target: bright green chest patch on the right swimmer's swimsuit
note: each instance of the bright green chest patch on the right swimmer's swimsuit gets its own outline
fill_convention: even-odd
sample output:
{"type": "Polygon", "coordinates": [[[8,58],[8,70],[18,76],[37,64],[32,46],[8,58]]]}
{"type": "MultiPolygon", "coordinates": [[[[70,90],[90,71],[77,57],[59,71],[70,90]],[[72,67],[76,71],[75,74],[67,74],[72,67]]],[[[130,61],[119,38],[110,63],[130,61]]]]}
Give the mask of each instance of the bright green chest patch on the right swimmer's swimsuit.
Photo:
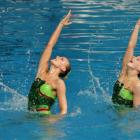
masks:
{"type": "Polygon", "coordinates": [[[131,91],[129,91],[128,89],[125,89],[124,87],[120,90],[119,95],[126,100],[133,100],[133,94],[131,91]]]}

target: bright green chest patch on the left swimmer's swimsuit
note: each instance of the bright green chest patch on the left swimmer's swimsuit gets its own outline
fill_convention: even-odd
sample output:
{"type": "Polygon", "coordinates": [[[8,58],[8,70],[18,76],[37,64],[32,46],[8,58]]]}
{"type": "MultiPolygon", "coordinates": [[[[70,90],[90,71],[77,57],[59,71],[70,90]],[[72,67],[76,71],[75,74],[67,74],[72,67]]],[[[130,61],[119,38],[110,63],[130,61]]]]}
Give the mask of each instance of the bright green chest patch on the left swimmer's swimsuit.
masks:
{"type": "Polygon", "coordinates": [[[56,96],[53,94],[52,87],[46,83],[40,86],[40,92],[54,100],[56,99],[56,96]]]}

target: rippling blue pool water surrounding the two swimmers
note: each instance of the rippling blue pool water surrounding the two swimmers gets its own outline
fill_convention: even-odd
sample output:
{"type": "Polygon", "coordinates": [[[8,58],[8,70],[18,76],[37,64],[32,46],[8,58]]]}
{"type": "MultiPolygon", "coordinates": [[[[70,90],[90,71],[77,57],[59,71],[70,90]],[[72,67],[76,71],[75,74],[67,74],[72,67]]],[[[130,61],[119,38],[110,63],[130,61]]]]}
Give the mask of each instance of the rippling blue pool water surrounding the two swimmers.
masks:
{"type": "Polygon", "coordinates": [[[139,7],[139,0],[1,0],[0,140],[139,140],[140,110],[111,102],[139,7]],[[68,115],[51,123],[27,111],[27,95],[44,46],[69,9],[73,24],[52,56],[71,61],[68,115]]]}

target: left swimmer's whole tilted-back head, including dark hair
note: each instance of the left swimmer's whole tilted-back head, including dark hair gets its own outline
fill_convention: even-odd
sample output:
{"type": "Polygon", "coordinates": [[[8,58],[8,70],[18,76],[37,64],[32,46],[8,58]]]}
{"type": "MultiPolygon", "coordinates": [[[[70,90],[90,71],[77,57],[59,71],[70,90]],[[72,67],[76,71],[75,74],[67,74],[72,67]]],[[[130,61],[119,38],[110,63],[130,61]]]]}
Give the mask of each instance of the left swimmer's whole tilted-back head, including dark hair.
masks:
{"type": "Polygon", "coordinates": [[[71,70],[70,62],[66,57],[57,56],[55,59],[51,60],[51,64],[60,69],[59,76],[61,78],[65,78],[71,70]]]}

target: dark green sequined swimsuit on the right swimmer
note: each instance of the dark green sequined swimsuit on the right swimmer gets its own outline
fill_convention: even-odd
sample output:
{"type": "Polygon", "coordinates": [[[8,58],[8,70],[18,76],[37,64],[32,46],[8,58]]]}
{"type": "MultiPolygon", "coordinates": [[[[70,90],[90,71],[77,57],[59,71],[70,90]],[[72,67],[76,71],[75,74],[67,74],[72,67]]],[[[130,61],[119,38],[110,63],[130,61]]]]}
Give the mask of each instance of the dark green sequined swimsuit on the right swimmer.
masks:
{"type": "Polygon", "coordinates": [[[116,81],[113,88],[112,101],[115,104],[133,107],[133,93],[124,88],[124,84],[116,81]]]}

